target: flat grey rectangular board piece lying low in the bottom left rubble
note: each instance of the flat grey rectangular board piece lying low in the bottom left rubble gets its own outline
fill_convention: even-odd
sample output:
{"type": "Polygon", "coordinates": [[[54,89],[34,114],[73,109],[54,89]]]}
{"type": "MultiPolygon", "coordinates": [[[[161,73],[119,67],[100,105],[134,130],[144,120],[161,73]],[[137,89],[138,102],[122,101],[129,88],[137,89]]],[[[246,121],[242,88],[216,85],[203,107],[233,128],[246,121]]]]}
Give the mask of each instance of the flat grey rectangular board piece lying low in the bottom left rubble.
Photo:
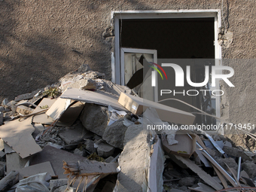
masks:
{"type": "Polygon", "coordinates": [[[49,161],[44,163],[38,163],[33,166],[27,166],[22,169],[18,169],[17,171],[20,172],[19,180],[43,172],[48,172],[51,176],[55,175],[53,167],[51,166],[49,161]]]}

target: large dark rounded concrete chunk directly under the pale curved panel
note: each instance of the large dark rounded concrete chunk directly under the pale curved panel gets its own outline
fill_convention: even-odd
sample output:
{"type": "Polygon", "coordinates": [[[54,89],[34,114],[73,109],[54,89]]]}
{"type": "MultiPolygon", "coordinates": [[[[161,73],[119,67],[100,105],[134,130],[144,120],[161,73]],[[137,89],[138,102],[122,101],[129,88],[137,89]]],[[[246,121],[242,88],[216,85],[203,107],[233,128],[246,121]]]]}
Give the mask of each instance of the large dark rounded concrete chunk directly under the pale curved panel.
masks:
{"type": "Polygon", "coordinates": [[[86,103],[84,111],[80,116],[80,120],[84,127],[99,136],[103,136],[105,128],[108,126],[109,122],[109,118],[107,117],[107,114],[102,112],[102,108],[104,107],[101,105],[86,103]]]}

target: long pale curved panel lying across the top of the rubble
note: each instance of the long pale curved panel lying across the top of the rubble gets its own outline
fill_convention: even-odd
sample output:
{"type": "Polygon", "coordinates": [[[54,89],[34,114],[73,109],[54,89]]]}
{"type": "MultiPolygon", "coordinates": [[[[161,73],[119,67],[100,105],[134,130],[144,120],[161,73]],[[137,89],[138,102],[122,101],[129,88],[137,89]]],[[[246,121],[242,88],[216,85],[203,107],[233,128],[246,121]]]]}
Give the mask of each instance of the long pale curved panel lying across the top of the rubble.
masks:
{"type": "Polygon", "coordinates": [[[120,111],[127,111],[122,105],[118,103],[118,96],[113,94],[106,93],[104,91],[96,90],[78,90],[78,89],[68,89],[60,98],[63,99],[74,99],[76,101],[95,103],[98,105],[108,106],[111,105],[112,108],[115,108],[120,111]]]}

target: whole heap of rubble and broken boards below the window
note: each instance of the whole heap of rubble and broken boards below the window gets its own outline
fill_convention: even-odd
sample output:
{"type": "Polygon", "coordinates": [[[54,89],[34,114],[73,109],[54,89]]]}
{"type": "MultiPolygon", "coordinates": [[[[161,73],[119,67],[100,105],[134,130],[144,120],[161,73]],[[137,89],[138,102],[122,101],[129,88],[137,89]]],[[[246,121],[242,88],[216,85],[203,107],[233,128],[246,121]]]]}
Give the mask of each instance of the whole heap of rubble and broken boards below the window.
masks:
{"type": "Polygon", "coordinates": [[[0,191],[255,189],[256,157],[87,65],[0,106],[0,191]],[[152,129],[148,129],[151,127],[152,129]]]}

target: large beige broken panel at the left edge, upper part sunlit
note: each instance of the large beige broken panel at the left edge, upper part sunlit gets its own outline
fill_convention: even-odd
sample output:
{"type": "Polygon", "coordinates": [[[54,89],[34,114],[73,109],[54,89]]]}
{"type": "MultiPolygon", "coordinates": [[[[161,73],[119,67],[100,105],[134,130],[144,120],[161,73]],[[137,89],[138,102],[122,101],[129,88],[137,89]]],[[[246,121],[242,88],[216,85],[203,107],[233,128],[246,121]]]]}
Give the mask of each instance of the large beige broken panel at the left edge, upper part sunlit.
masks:
{"type": "Polygon", "coordinates": [[[41,151],[41,148],[32,138],[35,128],[31,124],[32,117],[5,122],[1,126],[0,136],[20,157],[29,157],[41,151]]]}

